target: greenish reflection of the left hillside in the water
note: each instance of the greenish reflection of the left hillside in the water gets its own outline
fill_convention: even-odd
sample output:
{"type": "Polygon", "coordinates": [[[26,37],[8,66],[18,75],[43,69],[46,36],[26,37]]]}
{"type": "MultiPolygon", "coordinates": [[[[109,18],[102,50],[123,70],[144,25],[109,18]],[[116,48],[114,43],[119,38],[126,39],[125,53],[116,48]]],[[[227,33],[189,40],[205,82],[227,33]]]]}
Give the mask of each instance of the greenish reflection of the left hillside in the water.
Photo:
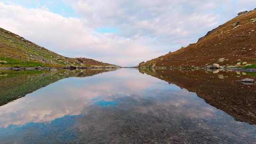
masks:
{"type": "Polygon", "coordinates": [[[87,77],[116,69],[0,71],[0,106],[67,77],[87,77]]]}

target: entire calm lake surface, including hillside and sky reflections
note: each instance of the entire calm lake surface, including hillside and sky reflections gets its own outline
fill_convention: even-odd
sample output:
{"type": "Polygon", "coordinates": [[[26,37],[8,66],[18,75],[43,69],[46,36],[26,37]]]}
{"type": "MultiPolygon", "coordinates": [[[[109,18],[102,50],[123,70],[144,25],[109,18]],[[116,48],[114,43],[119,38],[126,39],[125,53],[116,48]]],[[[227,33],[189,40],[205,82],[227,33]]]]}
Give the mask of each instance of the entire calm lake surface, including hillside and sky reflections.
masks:
{"type": "Polygon", "coordinates": [[[256,73],[0,71],[0,144],[256,144],[256,73]]]}

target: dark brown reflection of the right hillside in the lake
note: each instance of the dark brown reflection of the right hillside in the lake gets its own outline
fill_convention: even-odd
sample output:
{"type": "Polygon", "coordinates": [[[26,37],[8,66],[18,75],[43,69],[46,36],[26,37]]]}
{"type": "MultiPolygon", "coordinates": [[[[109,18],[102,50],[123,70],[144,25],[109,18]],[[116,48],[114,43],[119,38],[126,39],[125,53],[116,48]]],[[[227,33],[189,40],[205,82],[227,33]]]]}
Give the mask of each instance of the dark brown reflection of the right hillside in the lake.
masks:
{"type": "Polygon", "coordinates": [[[213,74],[199,70],[139,71],[196,92],[207,103],[225,111],[238,121],[256,124],[256,85],[238,82],[243,78],[250,78],[249,75],[237,77],[235,72],[213,74]]]}

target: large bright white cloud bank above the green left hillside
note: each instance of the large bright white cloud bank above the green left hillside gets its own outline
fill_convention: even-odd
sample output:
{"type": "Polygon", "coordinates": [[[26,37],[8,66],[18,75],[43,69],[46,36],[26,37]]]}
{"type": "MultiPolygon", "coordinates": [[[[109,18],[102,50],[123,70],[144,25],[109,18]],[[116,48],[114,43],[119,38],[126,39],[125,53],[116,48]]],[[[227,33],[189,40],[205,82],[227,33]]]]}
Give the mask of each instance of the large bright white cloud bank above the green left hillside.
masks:
{"type": "Polygon", "coordinates": [[[135,65],[146,55],[156,56],[136,39],[99,34],[79,18],[64,18],[47,9],[0,3],[0,21],[0,27],[67,56],[91,57],[120,65],[135,65]]]}

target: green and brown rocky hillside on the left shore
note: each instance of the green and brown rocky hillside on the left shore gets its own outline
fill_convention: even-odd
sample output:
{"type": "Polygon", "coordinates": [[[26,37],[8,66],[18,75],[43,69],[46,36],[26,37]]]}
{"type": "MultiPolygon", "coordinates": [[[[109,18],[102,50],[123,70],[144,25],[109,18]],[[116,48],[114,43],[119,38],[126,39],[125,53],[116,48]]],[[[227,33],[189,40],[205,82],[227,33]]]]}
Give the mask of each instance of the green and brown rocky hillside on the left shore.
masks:
{"type": "Polygon", "coordinates": [[[0,67],[118,67],[87,58],[68,58],[0,28],[0,67]]]}

